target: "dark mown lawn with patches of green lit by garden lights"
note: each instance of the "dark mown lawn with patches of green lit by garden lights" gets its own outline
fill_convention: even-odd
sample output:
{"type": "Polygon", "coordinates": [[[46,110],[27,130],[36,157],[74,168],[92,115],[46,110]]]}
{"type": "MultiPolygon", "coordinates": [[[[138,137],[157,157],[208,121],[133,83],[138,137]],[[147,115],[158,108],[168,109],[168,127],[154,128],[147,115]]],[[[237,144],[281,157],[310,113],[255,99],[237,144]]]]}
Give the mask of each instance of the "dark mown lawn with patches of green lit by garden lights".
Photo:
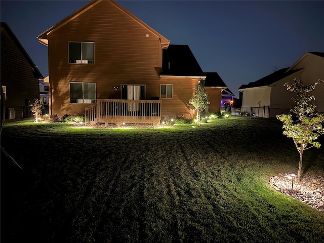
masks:
{"type": "MultiPolygon", "coordinates": [[[[324,242],[324,215],[270,188],[298,152],[275,119],[200,128],[4,126],[1,237],[9,242],[324,242]]],[[[323,146],[303,173],[324,175],[323,146]]]]}

